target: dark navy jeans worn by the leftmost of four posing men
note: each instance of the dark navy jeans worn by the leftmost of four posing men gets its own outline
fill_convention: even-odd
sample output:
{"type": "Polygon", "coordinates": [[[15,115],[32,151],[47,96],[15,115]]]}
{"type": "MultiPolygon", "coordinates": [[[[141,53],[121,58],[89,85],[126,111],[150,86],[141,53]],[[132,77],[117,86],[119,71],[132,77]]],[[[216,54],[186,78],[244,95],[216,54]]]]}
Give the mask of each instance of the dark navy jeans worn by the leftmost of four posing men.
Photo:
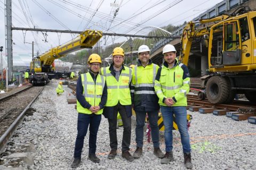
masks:
{"type": "Polygon", "coordinates": [[[84,146],[84,137],[86,136],[89,124],[89,154],[95,154],[97,133],[100,126],[100,121],[101,115],[78,113],[77,137],[74,158],[81,158],[82,149],[84,146]]]}

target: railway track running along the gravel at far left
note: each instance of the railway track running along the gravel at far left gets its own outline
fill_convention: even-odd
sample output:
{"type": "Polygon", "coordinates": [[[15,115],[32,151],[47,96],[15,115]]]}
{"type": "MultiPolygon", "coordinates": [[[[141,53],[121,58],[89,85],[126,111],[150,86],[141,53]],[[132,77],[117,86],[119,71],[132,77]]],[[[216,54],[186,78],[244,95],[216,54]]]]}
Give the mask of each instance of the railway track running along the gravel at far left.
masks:
{"type": "Polygon", "coordinates": [[[28,86],[0,96],[0,151],[43,89],[28,86]]]}

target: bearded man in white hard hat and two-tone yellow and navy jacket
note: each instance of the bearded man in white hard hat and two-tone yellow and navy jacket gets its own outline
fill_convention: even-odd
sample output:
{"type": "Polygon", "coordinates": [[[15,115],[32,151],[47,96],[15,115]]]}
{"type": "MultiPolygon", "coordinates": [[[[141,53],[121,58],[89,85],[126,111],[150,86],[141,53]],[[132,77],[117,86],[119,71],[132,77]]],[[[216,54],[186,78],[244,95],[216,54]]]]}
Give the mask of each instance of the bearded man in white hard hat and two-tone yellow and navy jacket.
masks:
{"type": "Polygon", "coordinates": [[[137,148],[133,154],[134,158],[142,156],[143,147],[143,127],[145,125],[146,113],[149,118],[151,135],[154,145],[154,155],[163,158],[164,154],[159,148],[159,129],[158,129],[158,97],[154,89],[155,76],[159,68],[149,59],[150,50],[148,46],[142,45],[138,49],[138,64],[133,67],[132,75],[132,98],[133,109],[136,113],[136,143],[137,148]]]}

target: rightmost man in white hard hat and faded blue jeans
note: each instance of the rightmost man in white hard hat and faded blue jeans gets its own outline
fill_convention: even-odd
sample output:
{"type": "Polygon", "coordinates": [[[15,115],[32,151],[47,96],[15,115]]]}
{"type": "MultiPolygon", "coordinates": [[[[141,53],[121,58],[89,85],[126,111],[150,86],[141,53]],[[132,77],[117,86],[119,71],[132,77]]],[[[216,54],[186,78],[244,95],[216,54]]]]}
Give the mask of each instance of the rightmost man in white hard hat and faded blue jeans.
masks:
{"type": "Polygon", "coordinates": [[[166,154],[161,164],[168,164],[173,159],[172,127],[173,115],[178,125],[183,149],[184,164],[186,168],[192,168],[189,134],[187,127],[187,97],[189,92],[190,78],[188,68],[179,63],[176,57],[176,49],[167,44],[163,48],[165,62],[158,69],[155,79],[155,90],[159,98],[161,112],[164,121],[164,138],[166,154]]]}

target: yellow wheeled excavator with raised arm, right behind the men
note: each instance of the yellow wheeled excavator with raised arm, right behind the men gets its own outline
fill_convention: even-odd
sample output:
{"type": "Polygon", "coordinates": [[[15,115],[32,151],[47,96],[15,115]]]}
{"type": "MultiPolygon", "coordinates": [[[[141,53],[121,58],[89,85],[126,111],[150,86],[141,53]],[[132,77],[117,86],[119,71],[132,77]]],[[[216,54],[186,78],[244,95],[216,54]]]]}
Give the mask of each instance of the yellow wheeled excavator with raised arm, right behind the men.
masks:
{"type": "Polygon", "coordinates": [[[183,64],[188,65],[193,43],[208,51],[209,75],[201,78],[201,88],[211,103],[230,103],[236,94],[256,102],[256,11],[246,6],[230,15],[190,21],[181,37],[183,64]],[[196,27],[198,22],[203,27],[196,27]]]}

